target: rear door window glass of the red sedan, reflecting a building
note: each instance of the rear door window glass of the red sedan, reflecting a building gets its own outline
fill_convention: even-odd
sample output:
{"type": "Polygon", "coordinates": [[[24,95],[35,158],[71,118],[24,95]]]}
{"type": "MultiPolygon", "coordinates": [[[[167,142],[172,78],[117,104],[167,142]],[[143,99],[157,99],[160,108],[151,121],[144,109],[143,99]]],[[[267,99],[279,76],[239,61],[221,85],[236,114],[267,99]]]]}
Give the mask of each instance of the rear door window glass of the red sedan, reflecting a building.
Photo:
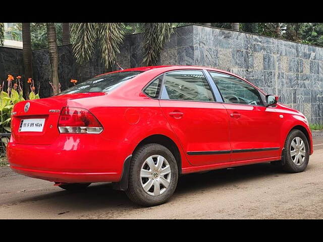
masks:
{"type": "Polygon", "coordinates": [[[168,95],[167,99],[214,101],[211,88],[201,71],[175,71],[167,73],[165,74],[164,85],[168,95]]]}

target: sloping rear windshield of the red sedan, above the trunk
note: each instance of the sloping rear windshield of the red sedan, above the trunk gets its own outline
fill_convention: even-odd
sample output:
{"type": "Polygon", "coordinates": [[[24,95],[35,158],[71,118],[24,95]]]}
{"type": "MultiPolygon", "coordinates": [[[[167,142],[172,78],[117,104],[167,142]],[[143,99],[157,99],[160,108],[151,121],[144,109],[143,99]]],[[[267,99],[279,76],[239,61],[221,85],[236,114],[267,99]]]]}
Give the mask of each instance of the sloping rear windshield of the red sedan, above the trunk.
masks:
{"type": "Polygon", "coordinates": [[[94,77],[85,82],[77,84],[73,87],[66,89],[59,95],[82,93],[82,92],[108,92],[112,89],[120,86],[125,81],[134,78],[142,72],[116,72],[111,74],[105,74],[102,76],[94,77]]]}

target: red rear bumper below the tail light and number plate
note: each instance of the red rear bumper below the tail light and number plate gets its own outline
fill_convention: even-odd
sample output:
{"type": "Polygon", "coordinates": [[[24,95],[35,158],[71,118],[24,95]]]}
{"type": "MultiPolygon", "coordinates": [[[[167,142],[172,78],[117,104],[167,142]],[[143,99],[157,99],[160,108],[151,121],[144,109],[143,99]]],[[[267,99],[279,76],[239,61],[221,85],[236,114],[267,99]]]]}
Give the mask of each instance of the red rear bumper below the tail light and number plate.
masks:
{"type": "MultiPolygon", "coordinates": [[[[129,156],[125,144],[97,135],[65,135],[51,145],[8,143],[10,167],[17,173],[62,183],[118,182],[129,156]]],[[[131,153],[131,152],[130,152],[131,153]]]]}

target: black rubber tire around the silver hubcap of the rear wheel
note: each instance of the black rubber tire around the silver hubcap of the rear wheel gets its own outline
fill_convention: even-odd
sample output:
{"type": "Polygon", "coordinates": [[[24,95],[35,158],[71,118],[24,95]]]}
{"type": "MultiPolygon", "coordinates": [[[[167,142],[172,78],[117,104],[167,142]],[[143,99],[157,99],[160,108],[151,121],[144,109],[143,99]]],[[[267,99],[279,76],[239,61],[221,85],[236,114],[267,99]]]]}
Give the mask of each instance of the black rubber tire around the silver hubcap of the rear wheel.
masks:
{"type": "MultiPolygon", "coordinates": [[[[178,167],[172,152],[163,145],[147,144],[134,152],[130,162],[127,196],[131,201],[142,206],[150,207],[167,202],[175,192],[178,181],[178,167]],[[158,196],[146,193],[141,185],[140,170],[145,160],[152,155],[161,155],[166,158],[171,168],[171,177],[168,188],[158,196]]],[[[152,187],[151,187],[152,188],[152,187]]]]}

